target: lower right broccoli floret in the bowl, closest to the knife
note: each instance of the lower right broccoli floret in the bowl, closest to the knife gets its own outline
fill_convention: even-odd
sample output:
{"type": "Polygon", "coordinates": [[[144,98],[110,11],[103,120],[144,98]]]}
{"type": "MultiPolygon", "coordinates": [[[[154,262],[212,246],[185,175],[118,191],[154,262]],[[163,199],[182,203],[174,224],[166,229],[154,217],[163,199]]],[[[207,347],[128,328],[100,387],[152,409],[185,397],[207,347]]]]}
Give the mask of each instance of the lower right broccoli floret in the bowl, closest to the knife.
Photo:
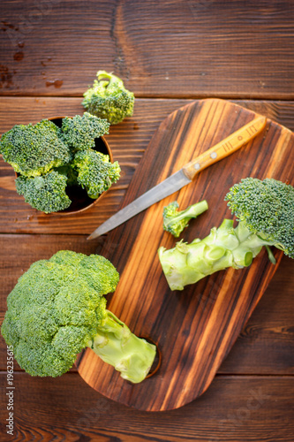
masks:
{"type": "Polygon", "coordinates": [[[78,173],[79,185],[87,190],[90,198],[98,198],[120,176],[120,167],[116,162],[110,163],[109,156],[87,149],[77,152],[72,167],[78,173]]]}

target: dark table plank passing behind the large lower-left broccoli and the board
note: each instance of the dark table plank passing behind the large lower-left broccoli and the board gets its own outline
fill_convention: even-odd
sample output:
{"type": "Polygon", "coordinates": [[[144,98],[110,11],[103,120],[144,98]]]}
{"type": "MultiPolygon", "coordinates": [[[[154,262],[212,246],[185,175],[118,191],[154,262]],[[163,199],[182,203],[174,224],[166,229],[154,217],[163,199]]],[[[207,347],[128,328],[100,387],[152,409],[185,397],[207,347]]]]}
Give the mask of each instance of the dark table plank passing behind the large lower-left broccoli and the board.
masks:
{"type": "MultiPolygon", "coordinates": [[[[105,238],[103,238],[105,241],[105,238]]],[[[70,249],[90,255],[99,244],[81,235],[0,235],[0,323],[6,297],[31,263],[47,259],[58,250],[70,249]]],[[[110,247],[110,245],[109,245],[110,247]]],[[[293,263],[283,257],[257,308],[235,346],[218,370],[222,374],[294,374],[293,263]]],[[[6,347],[0,339],[0,370],[5,370],[6,347]]],[[[15,362],[15,370],[19,365],[15,362]]],[[[76,370],[73,368],[72,370],[76,370]]]]}

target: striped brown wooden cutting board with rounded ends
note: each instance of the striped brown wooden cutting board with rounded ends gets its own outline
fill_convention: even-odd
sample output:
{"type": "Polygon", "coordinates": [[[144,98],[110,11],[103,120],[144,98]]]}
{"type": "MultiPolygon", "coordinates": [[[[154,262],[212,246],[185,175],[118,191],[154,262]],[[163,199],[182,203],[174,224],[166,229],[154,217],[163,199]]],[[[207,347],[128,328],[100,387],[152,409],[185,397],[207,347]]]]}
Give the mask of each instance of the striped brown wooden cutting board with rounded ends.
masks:
{"type": "MultiPolygon", "coordinates": [[[[195,101],[170,114],[150,141],[124,205],[255,117],[251,110],[217,99],[195,101]]],[[[263,250],[250,268],[219,271],[182,292],[171,292],[157,256],[160,246],[172,248],[176,242],[162,230],[163,206],[177,199],[185,209],[206,199],[207,212],[192,220],[180,237],[188,242],[203,238],[231,217],[223,198],[233,184],[249,176],[293,184],[293,164],[293,133],[268,120],[253,141],[200,172],[192,184],[96,240],[97,253],[109,258],[121,275],[116,292],[108,295],[108,309],[138,336],[154,341],[161,362],[153,376],[132,385],[87,349],[80,354],[78,370],[88,385],[112,400],[153,411],[181,407],[205,392],[283,253],[275,249],[273,265],[263,250]]]]}

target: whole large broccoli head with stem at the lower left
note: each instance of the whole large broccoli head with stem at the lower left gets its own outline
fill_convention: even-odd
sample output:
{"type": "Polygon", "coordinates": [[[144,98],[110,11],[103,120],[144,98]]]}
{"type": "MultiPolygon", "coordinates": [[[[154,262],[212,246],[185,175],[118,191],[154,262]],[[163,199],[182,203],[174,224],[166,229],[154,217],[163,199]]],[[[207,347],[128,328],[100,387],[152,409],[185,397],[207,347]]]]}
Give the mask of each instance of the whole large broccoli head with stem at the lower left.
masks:
{"type": "Polygon", "coordinates": [[[33,263],[7,298],[2,334],[22,369],[57,377],[90,347],[121,376],[141,382],[155,359],[155,346],[139,339],[106,309],[119,275],[103,256],[61,250],[33,263]]]}

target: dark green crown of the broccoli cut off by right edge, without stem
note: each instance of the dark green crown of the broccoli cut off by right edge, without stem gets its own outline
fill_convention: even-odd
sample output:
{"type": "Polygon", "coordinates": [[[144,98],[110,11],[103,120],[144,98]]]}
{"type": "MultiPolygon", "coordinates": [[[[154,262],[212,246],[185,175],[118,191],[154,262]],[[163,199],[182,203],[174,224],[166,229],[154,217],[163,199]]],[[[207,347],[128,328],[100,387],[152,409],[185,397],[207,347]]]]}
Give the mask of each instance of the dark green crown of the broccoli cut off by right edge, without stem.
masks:
{"type": "Polygon", "coordinates": [[[225,201],[251,232],[294,258],[294,187],[276,179],[242,179],[225,201]]]}

